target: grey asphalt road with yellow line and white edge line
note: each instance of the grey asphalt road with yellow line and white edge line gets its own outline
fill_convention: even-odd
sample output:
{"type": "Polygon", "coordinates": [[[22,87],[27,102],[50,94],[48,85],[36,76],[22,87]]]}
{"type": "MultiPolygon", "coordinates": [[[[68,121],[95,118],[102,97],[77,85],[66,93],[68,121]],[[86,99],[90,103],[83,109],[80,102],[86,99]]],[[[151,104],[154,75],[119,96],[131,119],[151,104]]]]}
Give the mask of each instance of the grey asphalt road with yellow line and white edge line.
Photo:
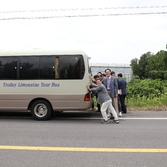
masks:
{"type": "Polygon", "coordinates": [[[48,121],[0,113],[0,167],[166,167],[167,111],[128,112],[101,124],[96,112],[48,121]]]}

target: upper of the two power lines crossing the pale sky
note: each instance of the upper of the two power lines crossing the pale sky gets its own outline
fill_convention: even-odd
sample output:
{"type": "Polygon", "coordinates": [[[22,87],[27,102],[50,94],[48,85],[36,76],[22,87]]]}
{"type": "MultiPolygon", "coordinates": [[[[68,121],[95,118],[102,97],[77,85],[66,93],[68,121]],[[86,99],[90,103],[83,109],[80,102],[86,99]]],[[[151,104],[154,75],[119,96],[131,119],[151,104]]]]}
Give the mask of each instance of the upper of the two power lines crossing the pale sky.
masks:
{"type": "Polygon", "coordinates": [[[167,8],[163,6],[129,6],[129,7],[104,7],[104,8],[64,8],[64,9],[41,9],[41,10],[15,10],[15,11],[0,11],[0,13],[23,13],[23,12],[54,12],[54,11],[83,11],[83,10],[111,10],[111,9],[156,9],[167,8]]]}

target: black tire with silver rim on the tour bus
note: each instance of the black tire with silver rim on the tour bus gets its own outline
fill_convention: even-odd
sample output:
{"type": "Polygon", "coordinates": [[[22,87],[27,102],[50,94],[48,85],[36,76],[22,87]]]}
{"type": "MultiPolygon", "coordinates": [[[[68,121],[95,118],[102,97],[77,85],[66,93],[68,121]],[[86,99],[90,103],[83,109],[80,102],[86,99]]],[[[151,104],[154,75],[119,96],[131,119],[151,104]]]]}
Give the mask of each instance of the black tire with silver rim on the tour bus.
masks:
{"type": "Polygon", "coordinates": [[[48,120],[52,115],[52,108],[45,100],[37,100],[31,106],[31,115],[36,120],[48,120]]]}

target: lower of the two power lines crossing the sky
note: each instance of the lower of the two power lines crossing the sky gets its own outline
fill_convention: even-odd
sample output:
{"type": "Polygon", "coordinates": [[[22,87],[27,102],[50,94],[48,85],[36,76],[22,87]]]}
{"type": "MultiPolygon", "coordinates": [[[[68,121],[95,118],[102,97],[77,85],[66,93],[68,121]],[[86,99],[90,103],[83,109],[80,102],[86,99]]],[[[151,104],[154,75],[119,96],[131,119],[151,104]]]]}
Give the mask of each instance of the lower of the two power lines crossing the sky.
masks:
{"type": "Polygon", "coordinates": [[[73,18],[73,17],[96,17],[96,16],[127,16],[127,15],[163,15],[167,12],[141,12],[141,13],[114,13],[114,14],[81,14],[81,15],[62,15],[62,16],[37,16],[37,17],[6,17],[0,20],[25,20],[25,19],[50,19],[50,18],[73,18]]]}

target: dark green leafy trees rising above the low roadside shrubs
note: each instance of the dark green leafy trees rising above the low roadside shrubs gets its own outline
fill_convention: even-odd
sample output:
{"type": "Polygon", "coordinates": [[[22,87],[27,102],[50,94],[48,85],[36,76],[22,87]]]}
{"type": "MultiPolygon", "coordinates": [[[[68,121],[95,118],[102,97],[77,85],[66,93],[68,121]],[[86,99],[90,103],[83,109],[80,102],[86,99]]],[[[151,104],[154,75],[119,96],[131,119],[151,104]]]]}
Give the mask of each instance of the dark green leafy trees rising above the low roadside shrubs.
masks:
{"type": "Polygon", "coordinates": [[[130,65],[133,75],[140,79],[167,79],[167,51],[161,50],[155,55],[144,53],[139,60],[132,59],[130,65]]]}

